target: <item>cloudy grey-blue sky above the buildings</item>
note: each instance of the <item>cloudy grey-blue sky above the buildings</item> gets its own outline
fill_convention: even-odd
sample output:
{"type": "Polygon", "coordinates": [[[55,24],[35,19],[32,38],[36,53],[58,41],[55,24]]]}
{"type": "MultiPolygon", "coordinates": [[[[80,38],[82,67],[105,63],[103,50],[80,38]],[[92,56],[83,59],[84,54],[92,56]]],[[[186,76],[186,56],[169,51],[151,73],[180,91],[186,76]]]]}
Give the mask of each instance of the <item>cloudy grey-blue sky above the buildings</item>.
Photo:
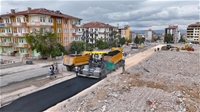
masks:
{"type": "Polygon", "coordinates": [[[200,0],[0,0],[0,14],[27,10],[27,7],[60,10],[82,19],[99,21],[131,30],[164,30],[178,25],[186,30],[200,21],[200,0]]]}

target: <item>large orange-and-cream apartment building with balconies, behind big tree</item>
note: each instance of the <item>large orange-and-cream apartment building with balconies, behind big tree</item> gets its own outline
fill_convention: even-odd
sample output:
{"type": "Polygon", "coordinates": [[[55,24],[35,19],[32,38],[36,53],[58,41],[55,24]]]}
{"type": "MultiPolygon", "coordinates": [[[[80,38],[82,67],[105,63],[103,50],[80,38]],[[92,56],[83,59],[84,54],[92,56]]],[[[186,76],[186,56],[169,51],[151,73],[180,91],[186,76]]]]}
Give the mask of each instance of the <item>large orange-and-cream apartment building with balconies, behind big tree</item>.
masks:
{"type": "Polygon", "coordinates": [[[31,9],[0,15],[0,53],[17,54],[23,57],[39,56],[36,51],[29,50],[26,42],[26,33],[34,29],[42,28],[44,31],[53,31],[57,35],[58,42],[64,47],[79,37],[76,26],[81,19],[61,13],[59,10],[47,10],[45,8],[31,9]]]}

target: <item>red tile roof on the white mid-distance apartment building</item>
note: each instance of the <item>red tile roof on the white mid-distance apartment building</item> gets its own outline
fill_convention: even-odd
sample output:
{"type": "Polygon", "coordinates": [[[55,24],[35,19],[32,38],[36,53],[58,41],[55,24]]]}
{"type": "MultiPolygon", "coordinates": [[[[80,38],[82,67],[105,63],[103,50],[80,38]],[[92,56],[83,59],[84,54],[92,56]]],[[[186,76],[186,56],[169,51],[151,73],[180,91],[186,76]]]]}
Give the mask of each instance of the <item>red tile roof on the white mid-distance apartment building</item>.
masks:
{"type": "Polygon", "coordinates": [[[83,24],[81,27],[83,28],[117,28],[117,27],[111,26],[109,24],[101,23],[101,22],[89,22],[89,23],[83,24]]]}

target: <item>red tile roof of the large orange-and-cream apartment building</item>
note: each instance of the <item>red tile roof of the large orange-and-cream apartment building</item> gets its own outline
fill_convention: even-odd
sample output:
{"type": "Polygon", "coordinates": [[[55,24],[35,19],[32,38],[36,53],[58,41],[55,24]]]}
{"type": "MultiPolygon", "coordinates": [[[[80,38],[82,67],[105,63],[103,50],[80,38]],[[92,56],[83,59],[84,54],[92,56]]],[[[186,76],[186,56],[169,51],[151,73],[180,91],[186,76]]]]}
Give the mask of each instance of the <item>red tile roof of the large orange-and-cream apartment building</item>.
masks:
{"type": "Polygon", "coordinates": [[[56,17],[62,17],[62,18],[72,18],[72,19],[82,20],[82,19],[77,18],[77,17],[73,17],[73,16],[70,16],[70,15],[67,15],[67,14],[63,14],[61,12],[57,13],[56,11],[48,10],[48,9],[45,9],[45,8],[31,9],[30,12],[28,12],[28,10],[26,10],[26,11],[15,12],[13,14],[12,13],[2,14],[2,15],[0,15],[0,17],[28,15],[28,14],[43,14],[43,15],[49,15],[49,16],[56,16],[56,17]]]}

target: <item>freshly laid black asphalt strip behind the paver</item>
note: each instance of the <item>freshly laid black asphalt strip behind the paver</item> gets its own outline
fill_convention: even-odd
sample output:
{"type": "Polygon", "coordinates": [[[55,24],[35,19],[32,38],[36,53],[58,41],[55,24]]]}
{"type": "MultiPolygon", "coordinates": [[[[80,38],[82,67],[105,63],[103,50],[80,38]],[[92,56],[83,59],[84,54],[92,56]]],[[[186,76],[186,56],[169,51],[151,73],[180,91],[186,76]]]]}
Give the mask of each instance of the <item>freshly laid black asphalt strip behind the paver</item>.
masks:
{"type": "Polygon", "coordinates": [[[76,95],[98,81],[100,80],[75,77],[49,88],[21,97],[9,105],[0,108],[0,112],[41,112],[76,95]]]}

